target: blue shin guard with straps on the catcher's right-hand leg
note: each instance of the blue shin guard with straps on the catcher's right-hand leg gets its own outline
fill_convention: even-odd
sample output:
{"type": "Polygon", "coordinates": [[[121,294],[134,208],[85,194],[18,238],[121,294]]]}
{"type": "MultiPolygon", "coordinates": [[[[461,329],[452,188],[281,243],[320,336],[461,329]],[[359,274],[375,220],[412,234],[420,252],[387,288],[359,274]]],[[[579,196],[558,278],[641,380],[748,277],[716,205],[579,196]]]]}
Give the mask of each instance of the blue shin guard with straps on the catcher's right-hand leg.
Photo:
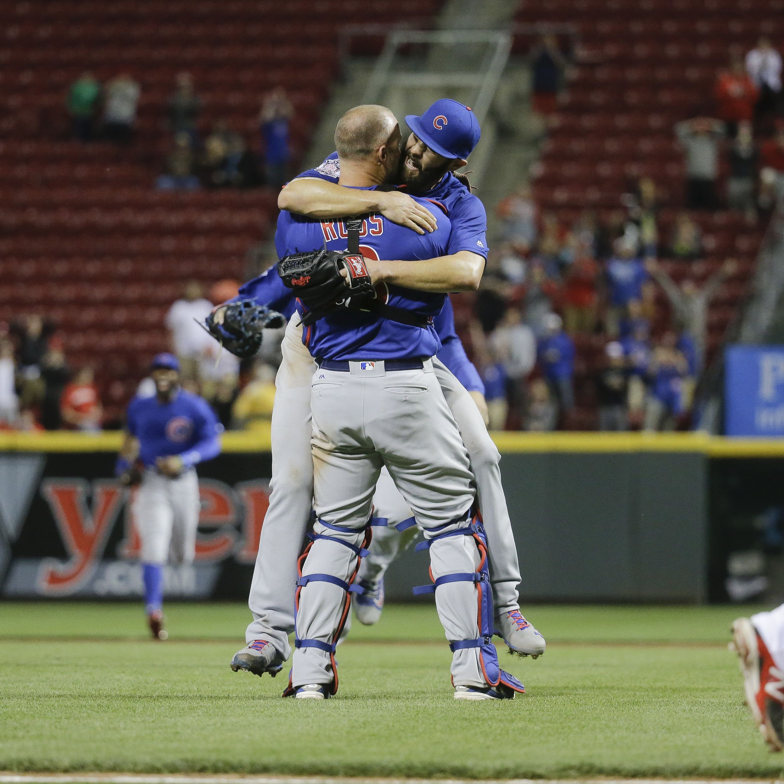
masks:
{"type": "Polygon", "coordinates": [[[432,543],[447,536],[470,536],[476,543],[479,551],[479,565],[475,572],[456,572],[449,575],[441,575],[434,580],[431,586],[419,586],[414,589],[415,595],[423,593],[435,593],[439,586],[447,583],[474,583],[477,588],[477,626],[479,637],[473,640],[455,640],[449,644],[452,653],[463,650],[464,648],[479,648],[479,663],[482,676],[488,686],[498,686],[504,684],[513,691],[524,694],[525,687],[517,680],[514,675],[504,672],[499,666],[498,652],[492,644],[493,636],[493,604],[492,590],[490,586],[490,572],[488,569],[488,545],[485,528],[481,524],[478,516],[474,516],[471,523],[463,528],[457,528],[444,534],[437,534],[432,539],[419,543],[416,550],[427,550],[432,543]]]}

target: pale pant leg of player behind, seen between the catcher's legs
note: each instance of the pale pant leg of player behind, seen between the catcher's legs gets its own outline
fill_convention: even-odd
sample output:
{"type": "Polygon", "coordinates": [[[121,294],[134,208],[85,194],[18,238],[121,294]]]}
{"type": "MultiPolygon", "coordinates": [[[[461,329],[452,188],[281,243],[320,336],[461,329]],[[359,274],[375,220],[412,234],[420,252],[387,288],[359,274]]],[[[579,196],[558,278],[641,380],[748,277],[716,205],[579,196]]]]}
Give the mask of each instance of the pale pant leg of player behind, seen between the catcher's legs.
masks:
{"type": "Polygon", "coordinates": [[[411,507],[394,486],[387,467],[384,466],[376,482],[376,494],[373,495],[373,517],[382,517],[387,525],[373,526],[373,539],[368,548],[370,552],[363,559],[358,579],[377,583],[383,579],[387,568],[416,539],[419,528],[413,525],[405,531],[398,531],[395,525],[413,517],[411,507]]]}

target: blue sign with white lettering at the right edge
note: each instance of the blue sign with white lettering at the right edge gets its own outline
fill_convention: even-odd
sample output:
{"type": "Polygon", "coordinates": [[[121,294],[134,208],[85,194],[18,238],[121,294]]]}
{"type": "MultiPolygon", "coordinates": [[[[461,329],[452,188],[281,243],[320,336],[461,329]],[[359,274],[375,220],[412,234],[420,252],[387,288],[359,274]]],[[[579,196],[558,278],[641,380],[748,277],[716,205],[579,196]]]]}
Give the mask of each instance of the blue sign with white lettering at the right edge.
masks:
{"type": "Polygon", "coordinates": [[[728,436],[784,436],[784,346],[730,346],[724,354],[728,436]]]}

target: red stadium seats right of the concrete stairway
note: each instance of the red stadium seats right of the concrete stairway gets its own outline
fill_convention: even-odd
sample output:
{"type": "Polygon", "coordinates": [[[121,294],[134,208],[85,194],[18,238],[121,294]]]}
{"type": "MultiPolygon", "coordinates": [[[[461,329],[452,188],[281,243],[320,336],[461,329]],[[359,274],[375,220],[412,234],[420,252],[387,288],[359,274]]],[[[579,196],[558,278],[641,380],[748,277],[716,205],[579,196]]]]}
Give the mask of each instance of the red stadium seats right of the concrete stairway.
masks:
{"type": "MultiPolygon", "coordinates": [[[[518,24],[574,24],[575,73],[543,147],[535,198],[571,225],[583,210],[608,217],[642,176],[659,188],[659,239],[670,239],[683,209],[683,154],[673,125],[715,114],[713,80],[729,47],[752,48],[760,34],[784,33],[782,0],[549,0],[523,2],[518,24]]],[[[521,42],[522,45],[523,42],[521,42]]],[[[521,46],[522,51],[522,46],[521,46]]],[[[710,308],[708,356],[720,345],[746,290],[763,234],[737,212],[690,212],[702,229],[706,263],[661,260],[673,278],[699,282],[734,256],[739,270],[710,308]]],[[[661,299],[662,311],[666,302],[661,299]]],[[[604,339],[579,340],[574,426],[596,425],[593,376],[604,339]]]]}

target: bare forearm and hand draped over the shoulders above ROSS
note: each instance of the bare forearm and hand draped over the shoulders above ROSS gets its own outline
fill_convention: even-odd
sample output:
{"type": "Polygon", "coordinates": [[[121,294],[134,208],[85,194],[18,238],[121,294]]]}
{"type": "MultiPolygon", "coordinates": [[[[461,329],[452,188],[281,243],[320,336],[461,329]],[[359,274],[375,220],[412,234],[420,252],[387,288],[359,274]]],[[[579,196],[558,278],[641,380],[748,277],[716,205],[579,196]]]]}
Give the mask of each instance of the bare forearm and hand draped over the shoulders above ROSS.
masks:
{"type": "Polygon", "coordinates": [[[380,212],[417,234],[434,231],[438,225],[429,209],[402,191],[357,191],[316,177],[292,180],[278,195],[278,207],[315,219],[380,212]]]}

